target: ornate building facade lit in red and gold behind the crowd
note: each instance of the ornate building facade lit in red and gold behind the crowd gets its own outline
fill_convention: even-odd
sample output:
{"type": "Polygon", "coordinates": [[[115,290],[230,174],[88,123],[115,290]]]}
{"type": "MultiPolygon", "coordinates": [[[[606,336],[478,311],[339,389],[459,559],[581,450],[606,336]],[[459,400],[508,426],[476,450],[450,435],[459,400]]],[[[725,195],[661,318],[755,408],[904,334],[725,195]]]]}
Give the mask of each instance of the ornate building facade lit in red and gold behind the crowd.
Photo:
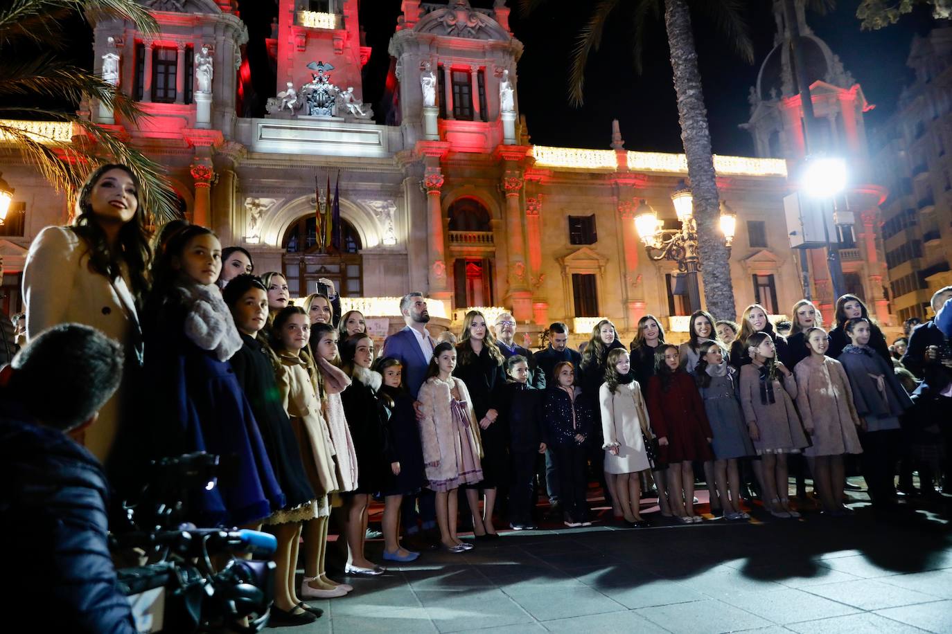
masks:
{"type": "MultiPolygon", "coordinates": [[[[634,225],[642,200],[665,227],[678,225],[671,192],[686,178],[684,156],[628,151],[607,122],[605,150],[530,144],[519,116],[523,47],[505,2],[402,2],[388,50],[387,125],[363,104],[370,50],[357,0],[280,0],[268,40],[277,97],[262,118],[243,116],[248,34],[228,0],[145,4],[160,36],[119,22],[95,29],[96,59],[114,49],[119,86],[152,115],[127,128],[129,138],[168,167],[190,220],[247,248],[257,272],[283,271],[292,295],[329,278],[368,317],[395,312],[392,300],[371,298],[423,290],[454,322],[469,306],[506,306],[526,331],[559,319],[585,332],[608,317],[629,340],[652,313],[674,338],[684,336],[677,265],[648,259],[634,225]],[[212,59],[208,92],[196,77],[202,48],[212,59]],[[325,190],[329,176],[334,187],[338,172],[341,250],[316,253],[324,193],[315,195],[315,182],[325,190]]],[[[843,94],[861,114],[858,86],[843,94]]],[[[98,104],[89,116],[125,127],[98,104]]],[[[730,266],[739,313],[760,301],[785,314],[801,297],[783,218],[784,158],[715,160],[722,199],[738,217],[730,266]]],[[[10,161],[2,171],[25,208],[20,232],[0,239],[15,310],[30,239],[67,221],[68,210],[29,168],[10,161]]],[[[865,297],[882,293],[870,288],[865,297]]]]}

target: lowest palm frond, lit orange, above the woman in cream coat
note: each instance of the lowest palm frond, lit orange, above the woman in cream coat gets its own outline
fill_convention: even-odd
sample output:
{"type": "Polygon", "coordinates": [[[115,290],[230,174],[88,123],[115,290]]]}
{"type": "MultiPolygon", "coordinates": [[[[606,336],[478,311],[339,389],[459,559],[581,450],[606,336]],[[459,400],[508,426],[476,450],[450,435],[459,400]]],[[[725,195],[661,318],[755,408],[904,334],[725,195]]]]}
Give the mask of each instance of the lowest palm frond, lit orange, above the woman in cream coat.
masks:
{"type": "Polygon", "coordinates": [[[0,140],[6,137],[12,141],[23,152],[26,162],[35,165],[56,189],[72,194],[83,183],[90,167],[123,163],[139,179],[139,201],[156,224],[179,217],[178,197],[164,176],[165,167],[127,144],[115,131],[73,114],[43,108],[0,106],[0,113],[4,111],[28,114],[36,120],[69,122],[78,128],[80,139],[74,137],[70,143],[63,143],[36,139],[19,128],[0,124],[0,140]]]}

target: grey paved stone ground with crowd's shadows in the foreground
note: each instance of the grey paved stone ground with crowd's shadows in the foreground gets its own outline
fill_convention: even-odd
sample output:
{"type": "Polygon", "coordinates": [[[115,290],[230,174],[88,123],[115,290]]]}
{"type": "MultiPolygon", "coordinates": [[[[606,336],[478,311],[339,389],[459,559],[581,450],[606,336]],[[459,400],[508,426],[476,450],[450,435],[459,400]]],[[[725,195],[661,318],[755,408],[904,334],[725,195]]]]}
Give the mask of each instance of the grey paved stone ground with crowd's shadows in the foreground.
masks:
{"type": "Polygon", "coordinates": [[[347,579],[354,592],[310,602],[324,617],[293,631],[952,632],[950,501],[902,521],[860,503],[847,518],[509,532],[347,579]]]}

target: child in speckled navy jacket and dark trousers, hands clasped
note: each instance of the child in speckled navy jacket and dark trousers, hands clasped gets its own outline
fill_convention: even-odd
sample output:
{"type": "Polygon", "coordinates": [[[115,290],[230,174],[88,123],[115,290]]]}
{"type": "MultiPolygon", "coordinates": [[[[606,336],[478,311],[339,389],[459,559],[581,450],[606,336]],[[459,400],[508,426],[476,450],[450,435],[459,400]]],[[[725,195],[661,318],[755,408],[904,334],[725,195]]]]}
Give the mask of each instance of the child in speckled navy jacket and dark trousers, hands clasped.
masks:
{"type": "Polygon", "coordinates": [[[575,368],[568,361],[552,370],[555,382],[543,397],[545,445],[555,451],[565,526],[590,526],[585,493],[585,440],[592,432],[592,413],[575,387],[575,368]]]}

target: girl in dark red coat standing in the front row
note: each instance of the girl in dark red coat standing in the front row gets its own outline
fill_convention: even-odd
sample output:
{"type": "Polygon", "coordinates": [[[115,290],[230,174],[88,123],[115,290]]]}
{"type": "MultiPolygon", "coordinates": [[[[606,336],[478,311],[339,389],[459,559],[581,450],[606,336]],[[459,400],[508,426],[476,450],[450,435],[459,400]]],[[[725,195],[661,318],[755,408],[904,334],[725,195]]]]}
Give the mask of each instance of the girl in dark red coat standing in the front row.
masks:
{"type": "Polygon", "coordinates": [[[684,524],[700,522],[694,514],[694,460],[714,459],[713,437],[698,388],[681,368],[678,349],[664,344],[655,353],[655,375],[648,382],[648,416],[658,436],[659,460],[668,464],[671,510],[684,524]],[[684,495],[684,500],[682,499],[684,495]]]}

